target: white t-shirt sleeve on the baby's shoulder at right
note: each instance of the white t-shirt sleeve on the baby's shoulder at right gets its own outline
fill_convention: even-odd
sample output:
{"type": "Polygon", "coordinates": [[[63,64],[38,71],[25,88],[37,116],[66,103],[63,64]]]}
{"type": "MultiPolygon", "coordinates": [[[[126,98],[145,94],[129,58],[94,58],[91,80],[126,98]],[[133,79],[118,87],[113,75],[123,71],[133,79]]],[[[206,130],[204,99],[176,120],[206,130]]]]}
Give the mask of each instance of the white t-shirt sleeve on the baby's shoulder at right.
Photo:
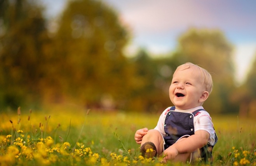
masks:
{"type": "Polygon", "coordinates": [[[211,117],[209,113],[207,113],[206,111],[200,111],[200,114],[197,116],[198,117],[194,125],[195,132],[198,130],[207,131],[210,134],[208,143],[210,145],[214,145],[215,131],[214,131],[213,122],[211,121],[211,117]]]}

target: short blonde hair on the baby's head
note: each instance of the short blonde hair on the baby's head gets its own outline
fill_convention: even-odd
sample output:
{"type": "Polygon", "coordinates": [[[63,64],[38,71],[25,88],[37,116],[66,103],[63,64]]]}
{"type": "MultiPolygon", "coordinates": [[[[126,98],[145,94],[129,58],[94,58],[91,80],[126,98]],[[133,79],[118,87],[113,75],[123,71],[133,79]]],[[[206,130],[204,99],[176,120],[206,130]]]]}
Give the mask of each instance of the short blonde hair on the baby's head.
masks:
{"type": "Polygon", "coordinates": [[[198,73],[198,76],[201,77],[201,80],[206,87],[206,91],[208,91],[210,94],[213,90],[213,79],[210,73],[206,69],[201,68],[200,66],[195,65],[191,62],[187,62],[183,65],[178,66],[176,70],[185,70],[189,68],[193,68],[198,73]]]}

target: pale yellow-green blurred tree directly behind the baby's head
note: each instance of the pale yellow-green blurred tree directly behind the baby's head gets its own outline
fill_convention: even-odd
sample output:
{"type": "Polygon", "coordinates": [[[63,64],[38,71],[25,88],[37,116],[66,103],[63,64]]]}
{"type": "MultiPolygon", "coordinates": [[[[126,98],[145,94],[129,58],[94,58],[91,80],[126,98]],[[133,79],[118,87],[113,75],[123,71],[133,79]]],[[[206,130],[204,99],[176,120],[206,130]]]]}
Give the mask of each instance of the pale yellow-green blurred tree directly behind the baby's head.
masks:
{"type": "Polygon", "coordinates": [[[178,40],[173,60],[199,64],[207,69],[214,82],[213,92],[204,107],[213,113],[238,111],[230,101],[234,85],[233,48],[219,30],[191,28],[178,40]]]}

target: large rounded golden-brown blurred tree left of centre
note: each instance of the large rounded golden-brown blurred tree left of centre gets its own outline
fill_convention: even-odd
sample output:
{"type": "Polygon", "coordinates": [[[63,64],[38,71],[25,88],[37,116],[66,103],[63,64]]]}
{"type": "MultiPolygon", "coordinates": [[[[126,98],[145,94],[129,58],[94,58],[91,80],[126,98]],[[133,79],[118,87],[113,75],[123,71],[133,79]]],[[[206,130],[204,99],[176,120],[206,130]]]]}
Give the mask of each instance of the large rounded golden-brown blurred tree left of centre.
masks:
{"type": "Polygon", "coordinates": [[[69,1],[55,36],[56,98],[66,93],[87,106],[98,107],[101,101],[109,107],[121,104],[131,77],[122,53],[128,38],[118,15],[102,1],[69,1]]]}

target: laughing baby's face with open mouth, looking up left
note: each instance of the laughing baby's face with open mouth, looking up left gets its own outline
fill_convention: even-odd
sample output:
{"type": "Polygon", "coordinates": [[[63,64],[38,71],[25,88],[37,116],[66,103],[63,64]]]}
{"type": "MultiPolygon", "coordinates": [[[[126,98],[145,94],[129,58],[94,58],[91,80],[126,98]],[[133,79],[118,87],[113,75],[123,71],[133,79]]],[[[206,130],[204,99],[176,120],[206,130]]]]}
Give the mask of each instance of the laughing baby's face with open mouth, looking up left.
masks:
{"type": "Polygon", "coordinates": [[[204,91],[203,81],[193,68],[176,70],[169,88],[171,102],[177,109],[185,110],[201,106],[204,91]]]}

